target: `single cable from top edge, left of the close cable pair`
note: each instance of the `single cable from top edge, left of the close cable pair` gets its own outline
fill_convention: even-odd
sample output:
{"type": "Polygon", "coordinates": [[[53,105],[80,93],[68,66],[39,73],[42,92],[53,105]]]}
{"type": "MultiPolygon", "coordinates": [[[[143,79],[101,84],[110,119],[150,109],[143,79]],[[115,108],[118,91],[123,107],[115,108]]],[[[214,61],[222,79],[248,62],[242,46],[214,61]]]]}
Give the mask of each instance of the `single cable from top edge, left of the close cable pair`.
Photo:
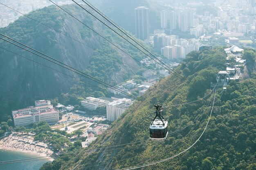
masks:
{"type": "MultiPolygon", "coordinates": [[[[49,0],[50,2],[52,2],[52,0],[49,0]]],[[[93,31],[94,33],[96,33],[97,35],[99,35],[100,37],[102,37],[103,39],[105,39],[106,41],[108,41],[110,44],[112,44],[113,46],[115,46],[116,48],[118,48],[119,50],[121,50],[122,52],[124,52],[125,54],[127,54],[128,56],[132,57],[130,54],[128,54],[126,51],[124,51],[123,49],[119,48],[117,45],[115,45],[114,43],[112,43],[110,40],[106,39],[105,37],[103,37],[101,34],[97,33],[94,29],[90,28],[89,26],[87,26],[86,24],[84,24],[82,21],[80,21],[79,19],[77,19],[76,17],[74,17],[71,13],[67,12],[65,9],[61,8],[59,5],[57,5],[56,3],[52,2],[53,4],[55,4],[57,7],[59,7],[60,9],[62,9],[65,13],[67,13],[68,15],[70,15],[71,17],[73,17],[75,20],[77,20],[78,22],[80,22],[81,24],[83,24],[84,26],[86,26],[87,28],[89,28],[91,31],[93,31]]],[[[132,59],[134,59],[135,61],[139,62],[137,59],[135,59],[134,57],[132,57],[132,59]]],[[[143,63],[141,63],[142,65],[144,65],[143,63]]],[[[148,68],[146,65],[144,65],[146,68],[148,68]]],[[[148,68],[149,70],[151,70],[150,68],[148,68]]],[[[157,74],[157,72],[151,70],[152,72],[154,72],[155,74],[157,74]]],[[[159,74],[157,74],[159,75],[159,74]]],[[[164,78],[163,76],[161,76],[162,78],[164,78]]],[[[165,79],[165,78],[164,78],[165,79]]]]}

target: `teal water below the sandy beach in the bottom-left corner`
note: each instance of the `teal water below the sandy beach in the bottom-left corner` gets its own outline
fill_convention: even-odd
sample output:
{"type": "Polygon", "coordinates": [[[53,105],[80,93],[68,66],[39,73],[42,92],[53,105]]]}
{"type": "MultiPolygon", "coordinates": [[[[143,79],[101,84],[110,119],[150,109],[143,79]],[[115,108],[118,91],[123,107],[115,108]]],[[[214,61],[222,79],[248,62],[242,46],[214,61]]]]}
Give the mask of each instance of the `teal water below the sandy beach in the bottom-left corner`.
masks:
{"type": "MultiPolygon", "coordinates": [[[[0,149],[0,162],[14,160],[14,159],[26,159],[31,157],[38,157],[38,155],[33,153],[25,153],[25,152],[13,151],[13,150],[0,149]]],[[[40,167],[46,162],[50,162],[49,159],[19,162],[19,163],[9,163],[9,164],[3,164],[3,165],[1,165],[0,163],[0,170],[39,170],[40,167]]]]}

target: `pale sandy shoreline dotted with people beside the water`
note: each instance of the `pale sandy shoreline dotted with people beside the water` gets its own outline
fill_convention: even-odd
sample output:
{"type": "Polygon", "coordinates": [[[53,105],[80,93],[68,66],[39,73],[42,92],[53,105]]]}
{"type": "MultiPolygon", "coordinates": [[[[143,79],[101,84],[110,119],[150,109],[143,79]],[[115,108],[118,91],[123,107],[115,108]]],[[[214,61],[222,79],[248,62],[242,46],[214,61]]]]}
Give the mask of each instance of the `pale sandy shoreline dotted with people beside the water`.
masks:
{"type": "Polygon", "coordinates": [[[43,159],[47,158],[49,161],[54,161],[52,157],[48,156],[53,154],[53,151],[49,148],[43,148],[33,144],[24,143],[22,141],[18,141],[13,136],[4,137],[1,139],[0,149],[22,153],[31,153],[33,155],[38,155],[38,157],[43,157],[43,159]]]}

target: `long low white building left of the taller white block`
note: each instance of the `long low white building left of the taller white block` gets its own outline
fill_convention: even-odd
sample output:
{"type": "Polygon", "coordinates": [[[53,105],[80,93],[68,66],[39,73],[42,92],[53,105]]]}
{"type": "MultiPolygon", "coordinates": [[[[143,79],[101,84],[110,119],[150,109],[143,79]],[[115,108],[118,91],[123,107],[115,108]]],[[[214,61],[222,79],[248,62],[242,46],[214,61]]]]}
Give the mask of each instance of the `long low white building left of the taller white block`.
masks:
{"type": "Polygon", "coordinates": [[[81,105],[89,110],[96,110],[97,107],[105,107],[110,101],[100,98],[87,97],[86,100],[81,101],[81,105]]]}

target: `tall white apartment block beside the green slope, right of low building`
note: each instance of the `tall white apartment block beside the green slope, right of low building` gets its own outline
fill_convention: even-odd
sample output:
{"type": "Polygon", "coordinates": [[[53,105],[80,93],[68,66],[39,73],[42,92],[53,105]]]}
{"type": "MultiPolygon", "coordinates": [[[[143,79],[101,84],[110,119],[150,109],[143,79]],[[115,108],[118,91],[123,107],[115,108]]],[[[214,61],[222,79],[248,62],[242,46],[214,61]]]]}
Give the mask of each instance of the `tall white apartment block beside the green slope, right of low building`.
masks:
{"type": "Polygon", "coordinates": [[[115,121],[122,113],[131,105],[131,100],[122,98],[108,103],[107,105],[107,120],[115,121]],[[123,105],[123,106],[121,106],[123,105]]]}

